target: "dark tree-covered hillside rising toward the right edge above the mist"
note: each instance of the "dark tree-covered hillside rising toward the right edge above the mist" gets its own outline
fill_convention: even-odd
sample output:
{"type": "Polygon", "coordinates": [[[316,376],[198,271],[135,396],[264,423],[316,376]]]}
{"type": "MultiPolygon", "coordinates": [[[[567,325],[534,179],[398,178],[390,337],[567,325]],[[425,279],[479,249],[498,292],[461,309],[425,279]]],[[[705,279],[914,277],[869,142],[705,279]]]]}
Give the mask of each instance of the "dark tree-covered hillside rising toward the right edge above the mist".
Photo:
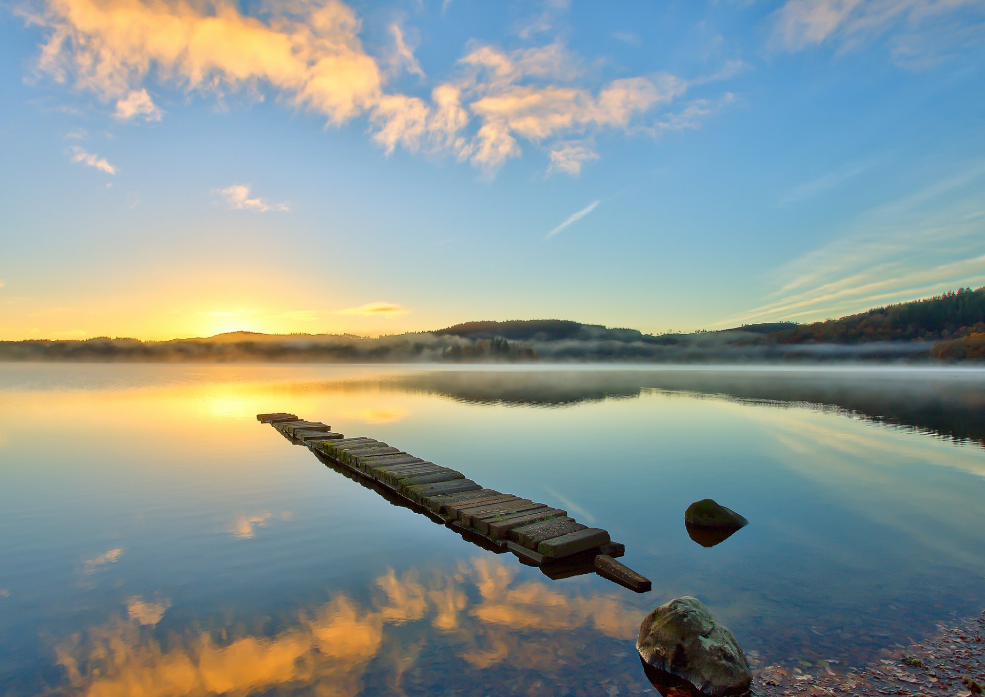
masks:
{"type": "Polygon", "coordinates": [[[898,305],[769,334],[778,344],[860,344],[875,341],[948,341],[985,332],[985,287],[898,305]]]}

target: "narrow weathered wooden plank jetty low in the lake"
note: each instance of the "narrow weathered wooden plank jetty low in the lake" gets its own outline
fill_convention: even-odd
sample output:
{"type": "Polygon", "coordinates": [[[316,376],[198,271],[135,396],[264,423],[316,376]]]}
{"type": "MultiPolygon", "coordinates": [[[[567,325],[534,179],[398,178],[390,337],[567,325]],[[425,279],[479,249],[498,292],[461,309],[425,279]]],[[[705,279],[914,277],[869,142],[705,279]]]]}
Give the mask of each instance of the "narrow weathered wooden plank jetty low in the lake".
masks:
{"type": "Polygon", "coordinates": [[[327,424],[295,414],[256,418],[391,503],[423,513],[493,552],[512,552],[551,578],[594,572],[635,592],[650,590],[648,579],[616,561],[624,545],[566,511],[488,489],[456,469],[372,438],[346,438],[327,424]]]}

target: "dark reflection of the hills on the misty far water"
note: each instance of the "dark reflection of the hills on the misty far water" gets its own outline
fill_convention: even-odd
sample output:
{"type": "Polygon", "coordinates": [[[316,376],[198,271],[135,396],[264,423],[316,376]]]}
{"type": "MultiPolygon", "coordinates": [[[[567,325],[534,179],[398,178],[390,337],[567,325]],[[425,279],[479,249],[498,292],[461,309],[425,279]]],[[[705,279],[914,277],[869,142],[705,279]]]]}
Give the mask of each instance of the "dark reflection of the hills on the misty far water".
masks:
{"type": "Polygon", "coordinates": [[[378,384],[515,406],[637,397],[644,389],[688,391],[773,406],[830,406],[875,423],[985,445],[985,374],[971,371],[428,371],[378,384]]]}

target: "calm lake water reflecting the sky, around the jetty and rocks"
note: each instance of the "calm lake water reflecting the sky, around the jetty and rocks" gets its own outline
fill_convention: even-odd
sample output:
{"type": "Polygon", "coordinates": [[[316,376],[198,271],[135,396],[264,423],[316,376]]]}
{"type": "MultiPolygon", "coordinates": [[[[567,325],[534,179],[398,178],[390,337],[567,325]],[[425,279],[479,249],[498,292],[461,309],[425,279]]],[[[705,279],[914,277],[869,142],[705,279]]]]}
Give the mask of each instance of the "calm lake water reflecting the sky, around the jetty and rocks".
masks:
{"type": "Polygon", "coordinates": [[[985,608],[985,372],[0,365],[3,694],[627,695],[701,598],[834,669],[985,608]],[[293,411],[566,509],[553,581],[292,446],[293,411]],[[751,524],[705,548],[684,511],[751,524]]]}

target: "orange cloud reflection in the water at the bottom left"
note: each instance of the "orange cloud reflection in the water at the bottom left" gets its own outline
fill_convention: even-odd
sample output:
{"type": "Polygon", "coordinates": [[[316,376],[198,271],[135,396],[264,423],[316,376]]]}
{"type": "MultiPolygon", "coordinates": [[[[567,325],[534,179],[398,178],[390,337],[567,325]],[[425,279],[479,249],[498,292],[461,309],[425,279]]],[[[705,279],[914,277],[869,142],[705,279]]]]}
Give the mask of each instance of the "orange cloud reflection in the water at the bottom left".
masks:
{"type": "MultiPolygon", "coordinates": [[[[372,601],[340,593],[271,636],[216,627],[162,639],[116,618],[59,646],[58,661],[66,691],[92,697],[343,697],[426,687],[431,694],[455,685],[472,693],[484,682],[501,688],[504,672],[522,679],[526,693],[553,695],[566,693],[569,681],[584,689],[586,668],[603,678],[613,674],[616,649],[601,655],[587,647],[618,640],[613,647],[632,654],[641,611],[616,595],[514,583],[515,573],[486,558],[428,578],[390,571],[376,580],[372,601]],[[507,670],[488,674],[504,662],[507,670]],[[543,689],[530,689],[532,674],[543,689]]],[[[588,687],[584,694],[606,691],[588,687]]]]}

